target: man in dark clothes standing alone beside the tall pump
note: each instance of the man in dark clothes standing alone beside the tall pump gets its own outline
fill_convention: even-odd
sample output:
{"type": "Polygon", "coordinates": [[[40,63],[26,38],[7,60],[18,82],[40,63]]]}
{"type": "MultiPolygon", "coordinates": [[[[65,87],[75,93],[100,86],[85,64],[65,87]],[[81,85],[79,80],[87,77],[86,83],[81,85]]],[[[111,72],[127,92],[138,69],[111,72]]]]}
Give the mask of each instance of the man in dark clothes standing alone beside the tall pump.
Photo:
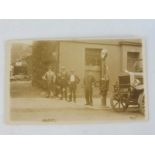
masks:
{"type": "Polygon", "coordinates": [[[86,105],[93,105],[93,84],[95,83],[95,78],[91,71],[87,71],[84,77],[84,89],[85,89],[85,99],[86,105]]]}

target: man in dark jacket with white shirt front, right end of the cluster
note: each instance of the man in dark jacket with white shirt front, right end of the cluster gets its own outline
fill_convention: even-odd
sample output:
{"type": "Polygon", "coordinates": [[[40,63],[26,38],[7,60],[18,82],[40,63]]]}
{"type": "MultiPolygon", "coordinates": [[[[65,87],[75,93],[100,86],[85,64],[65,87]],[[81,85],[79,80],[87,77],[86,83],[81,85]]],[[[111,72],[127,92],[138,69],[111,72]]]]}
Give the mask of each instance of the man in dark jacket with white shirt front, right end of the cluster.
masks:
{"type": "Polygon", "coordinates": [[[75,72],[72,70],[69,75],[68,84],[69,84],[69,102],[73,101],[76,102],[76,87],[77,84],[80,82],[80,79],[75,72]]]}

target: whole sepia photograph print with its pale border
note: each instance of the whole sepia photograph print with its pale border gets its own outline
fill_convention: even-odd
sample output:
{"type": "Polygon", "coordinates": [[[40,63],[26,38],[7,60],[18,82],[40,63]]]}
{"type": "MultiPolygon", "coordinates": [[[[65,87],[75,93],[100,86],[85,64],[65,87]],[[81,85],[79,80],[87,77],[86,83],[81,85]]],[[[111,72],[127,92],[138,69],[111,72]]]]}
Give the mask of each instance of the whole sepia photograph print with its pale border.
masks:
{"type": "Polygon", "coordinates": [[[147,119],[143,39],[21,39],[6,46],[8,123],[147,119]]]}

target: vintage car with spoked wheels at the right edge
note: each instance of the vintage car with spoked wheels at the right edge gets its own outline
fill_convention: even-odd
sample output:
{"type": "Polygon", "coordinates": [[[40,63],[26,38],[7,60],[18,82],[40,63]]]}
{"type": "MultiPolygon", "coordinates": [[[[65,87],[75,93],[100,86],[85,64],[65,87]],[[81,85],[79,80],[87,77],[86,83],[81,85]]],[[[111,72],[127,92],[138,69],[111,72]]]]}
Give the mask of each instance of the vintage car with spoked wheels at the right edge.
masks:
{"type": "Polygon", "coordinates": [[[144,114],[143,73],[125,72],[120,74],[114,85],[111,106],[115,111],[125,111],[129,106],[137,106],[144,114]]]}

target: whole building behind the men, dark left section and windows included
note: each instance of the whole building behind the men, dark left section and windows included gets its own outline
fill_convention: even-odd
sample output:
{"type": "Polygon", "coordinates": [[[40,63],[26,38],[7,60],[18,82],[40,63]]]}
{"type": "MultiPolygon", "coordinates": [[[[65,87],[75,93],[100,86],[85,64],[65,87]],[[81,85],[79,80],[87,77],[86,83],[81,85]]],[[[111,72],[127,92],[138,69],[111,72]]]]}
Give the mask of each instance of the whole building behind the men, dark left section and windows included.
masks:
{"type": "MultiPolygon", "coordinates": [[[[83,94],[83,78],[86,70],[91,70],[99,83],[101,77],[101,50],[108,51],[107,65],[110,73],[110,90],[125,70],[134,72],[142,59],[141,40],[77,40],[77,41],[36,41],[32,53],[33,84],[41,86],[41,76],[52,64],[56,72],[61,66],[68,71],[74,69],[80,77],[78,94],[83,94]],[[138,63],[137,63],[138,64],[138,63]],[[136,67],[135,67],[136,66],[136,67]]],[[[140,71],[140,70],[139,70],[140,71]]],[[[142,69],[141,69],[142,71],[142,69]]],[[[99,85],[95,88],[99,94],[99,85]]]]}

